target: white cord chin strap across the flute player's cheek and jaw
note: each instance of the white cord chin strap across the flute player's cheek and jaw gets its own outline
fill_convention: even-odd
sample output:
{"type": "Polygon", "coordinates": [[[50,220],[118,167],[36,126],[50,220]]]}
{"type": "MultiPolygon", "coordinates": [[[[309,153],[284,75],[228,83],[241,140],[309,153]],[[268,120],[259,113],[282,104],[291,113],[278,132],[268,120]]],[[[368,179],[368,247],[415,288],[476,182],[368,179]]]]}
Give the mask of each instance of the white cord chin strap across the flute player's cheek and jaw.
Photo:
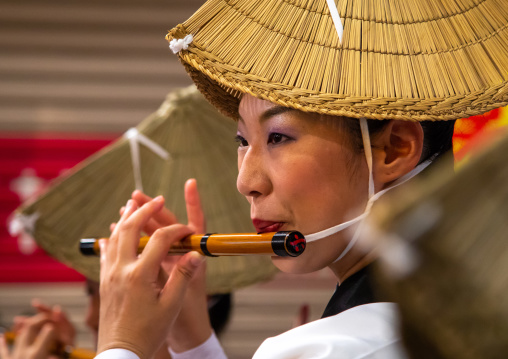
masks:
{"type": "MultiPolygon", "coordinates": [[[[361,215],[359,215],[356,218],[353,218],[347,222],[338,224],[336,226],[327,228],[325,230],[322,230],[320,232],[307,234],[305,235],[305,239],[307,243],[317,241],[318,239],[323,239],[326,237],[331,236],[332,234],[338,233],[353,224],[362,221],[367,215],[370,213],[370,209],[372,208],[372,205],[375,201],[377,201],[383,194],[391,190],[392,188],[395,188],[404,182],[410,180],[414,176],[416,176],[418,173],[423,171],[431,162],[432,160],[427,160],[425,162],[420,163],[418,166],[416,166],[411,172],[406,173],[404,176],[400,177],[398,180],[392,183],[392,185],[388,188],[385,188],[384,190],[379,191],[378,193],[374,193],[374,178],[372,176],[372,148],[370,145],[370,136],[369,136],[369,128],[367,125],[367,120],[365,118],[360,119],[360,128],[362,131],[362,139],[363,139],[363,148],[365,151],[365,158],[367,160],[367,167],[369,169],[369,200],[367,201],[367,205],[365,206],[365,210],[361,215]]],[[[361,225],[361,223],[360,223],[361,225]]],[[[339,257],[334,261],[337,262],[341,260],[355,245],[356,241],[359,237],[359,230],[360,226],[355,230],[353,237],[351,238],[351,241],[349,241],[346,248],[342,251],[342,253],[339,255],[339,257]]]]}

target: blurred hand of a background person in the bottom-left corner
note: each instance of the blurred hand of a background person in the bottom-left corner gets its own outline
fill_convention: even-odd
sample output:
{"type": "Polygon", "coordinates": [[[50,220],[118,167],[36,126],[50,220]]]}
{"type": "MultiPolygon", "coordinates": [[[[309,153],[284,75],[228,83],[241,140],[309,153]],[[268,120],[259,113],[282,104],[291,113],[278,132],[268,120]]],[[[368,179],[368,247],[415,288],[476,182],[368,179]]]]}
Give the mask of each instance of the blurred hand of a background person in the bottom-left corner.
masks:
{"type": "Polygon", "coordinates": [[[48,359],[56,346],[54,323],[45,313],[24,318],[16,330],[16,341],[9,352],[5,337],[0,336],[0,358],[2,359],[48,359]]]}

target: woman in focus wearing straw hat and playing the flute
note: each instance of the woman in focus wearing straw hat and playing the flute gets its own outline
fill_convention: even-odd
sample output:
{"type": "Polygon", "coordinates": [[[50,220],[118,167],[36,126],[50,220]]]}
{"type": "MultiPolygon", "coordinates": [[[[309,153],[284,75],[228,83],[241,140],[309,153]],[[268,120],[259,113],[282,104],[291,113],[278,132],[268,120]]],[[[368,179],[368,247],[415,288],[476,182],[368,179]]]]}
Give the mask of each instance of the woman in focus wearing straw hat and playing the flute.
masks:
{"type": "MultiPolygon", "coordinates": [[[[377,198],[451,147],[453,121],[432,121],[508,102],[505,5],[466,3],[214,0],[168,35],[200,91],[238,120],[237,187],[257,231],[307,238],[305,253],[274,263],[337,278],[328,318],[269,339],[256,358],[403,357],[395,308],[373,303],[376,256],[359,228],[377,198]]],[[[180,258],[160,281],[171,244],[204,230],[195,182],[185,192],[189,226],[136,193],[101,243],[99,358],[149,358],[167,333],[176,358],[224,357],[201,259],[180,258]],[[138,259],[142,230],[153,235],[138,259]]]]}

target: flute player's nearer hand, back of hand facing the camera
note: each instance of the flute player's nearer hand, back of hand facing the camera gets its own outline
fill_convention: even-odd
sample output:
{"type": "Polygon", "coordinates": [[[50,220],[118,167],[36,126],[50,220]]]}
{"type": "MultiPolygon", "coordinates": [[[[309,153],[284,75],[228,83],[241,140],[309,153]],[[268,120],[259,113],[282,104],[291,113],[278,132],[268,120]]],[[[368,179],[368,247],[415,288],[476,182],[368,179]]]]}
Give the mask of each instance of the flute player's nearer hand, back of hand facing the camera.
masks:
{"type": "Polygon", "coordinates": [[[143,228],[164,205],[157,197],[138,208],[129,200],[109,240],[101,240],[101,310],[98,351],[128,349],[150,358],[166,339],[187,286],[203,261],[195,252],[179,257],[162,282],[160,267],[171,245],[193,231],[184,225],[157,229],[143,253],[137,246],[143,228]]]}

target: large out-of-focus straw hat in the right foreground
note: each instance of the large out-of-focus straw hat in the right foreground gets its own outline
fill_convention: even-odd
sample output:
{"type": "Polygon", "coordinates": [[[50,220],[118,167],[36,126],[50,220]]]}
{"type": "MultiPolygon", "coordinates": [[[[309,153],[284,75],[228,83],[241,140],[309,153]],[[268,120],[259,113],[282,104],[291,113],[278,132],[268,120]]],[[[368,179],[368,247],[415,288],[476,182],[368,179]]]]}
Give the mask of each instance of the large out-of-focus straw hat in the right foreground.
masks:
{"type": "Polygon", "coordinates": [[[411,358],[506,358],[508,133],[456,175],[439,166],[370,217],[379,284],[400,308],[411,358]]]}

